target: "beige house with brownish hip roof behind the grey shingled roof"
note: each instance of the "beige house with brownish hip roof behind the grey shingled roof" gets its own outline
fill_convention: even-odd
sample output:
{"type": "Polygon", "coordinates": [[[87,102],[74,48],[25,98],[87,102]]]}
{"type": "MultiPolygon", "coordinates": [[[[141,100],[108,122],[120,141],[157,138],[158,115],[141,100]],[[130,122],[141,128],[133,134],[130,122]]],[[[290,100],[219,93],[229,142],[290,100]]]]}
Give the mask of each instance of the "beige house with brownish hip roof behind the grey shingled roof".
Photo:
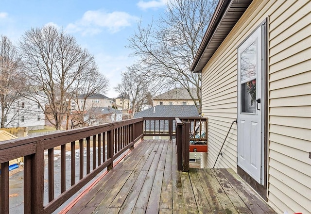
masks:
{"type": "MultiPolygon", "coordinates": [[[[199,99],[196,96],[196,88],[190,88],[191,94],[195,96],[196,102],[199,103],[199,99]]],[[[189,92],[186,88],[174,88],[163,94],[155,96],[153,98],[153,104],[156,105],[194,105],[193,99],[191,99],[189,92]]]]}

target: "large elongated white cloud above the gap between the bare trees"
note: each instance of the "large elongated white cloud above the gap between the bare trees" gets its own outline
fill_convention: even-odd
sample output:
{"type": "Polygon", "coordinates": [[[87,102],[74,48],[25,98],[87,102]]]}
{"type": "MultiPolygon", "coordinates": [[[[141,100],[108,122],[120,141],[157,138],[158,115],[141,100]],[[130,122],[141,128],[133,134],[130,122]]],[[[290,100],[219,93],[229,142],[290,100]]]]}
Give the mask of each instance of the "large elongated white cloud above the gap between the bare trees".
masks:
{"type": "Polygon", "coordinates": [[[106,28],[110,33],[116,33],[124,27],[131,26],[137,20],[137,16],[131,16],[125,12],[86,11],[81,19],[70,23],[65,30],[68,33],[81,32],[83,35],[94,35],[106,28]]]}

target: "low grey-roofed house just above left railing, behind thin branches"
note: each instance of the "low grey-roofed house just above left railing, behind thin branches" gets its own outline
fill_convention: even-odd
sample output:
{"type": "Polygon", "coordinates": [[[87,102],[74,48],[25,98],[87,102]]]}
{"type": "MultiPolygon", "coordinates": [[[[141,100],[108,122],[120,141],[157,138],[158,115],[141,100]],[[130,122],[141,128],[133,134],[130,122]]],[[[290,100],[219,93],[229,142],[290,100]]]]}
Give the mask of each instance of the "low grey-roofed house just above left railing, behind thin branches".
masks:
{"type": "Polygon", "coordinates": [[[84,115],[88,125],[99,125],[122,120],[122,111],[111,107],[93,107],[84,115]]]}

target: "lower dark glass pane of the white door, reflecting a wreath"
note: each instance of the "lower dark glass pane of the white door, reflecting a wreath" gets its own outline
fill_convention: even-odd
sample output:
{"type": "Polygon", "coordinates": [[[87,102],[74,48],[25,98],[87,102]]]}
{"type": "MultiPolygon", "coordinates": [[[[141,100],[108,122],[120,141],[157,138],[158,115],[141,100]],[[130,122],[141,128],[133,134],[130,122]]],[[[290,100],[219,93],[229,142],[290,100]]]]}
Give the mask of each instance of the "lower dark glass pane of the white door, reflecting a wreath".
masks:
{"type": "Polygon", "coordinates": [[[242,113],[256,113],[256,79],[241,84],[242,113]]]}

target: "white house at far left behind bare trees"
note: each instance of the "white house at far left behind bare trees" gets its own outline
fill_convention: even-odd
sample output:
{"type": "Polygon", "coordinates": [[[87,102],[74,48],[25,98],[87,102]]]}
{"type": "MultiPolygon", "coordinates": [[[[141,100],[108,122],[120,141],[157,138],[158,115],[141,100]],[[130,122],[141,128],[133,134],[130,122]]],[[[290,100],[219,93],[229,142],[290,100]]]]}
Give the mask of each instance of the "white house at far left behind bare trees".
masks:
{"type": "MultiPolygon", "coordinates": [[[[40,105],[45,108],[45,101],[42,100],[40,105]]],[[[26,98],[16,100],[4,120],[4,127],[27,127],[28,130],[44,129],[45,115],[40,105],[38,102],[26,98]]]]}

